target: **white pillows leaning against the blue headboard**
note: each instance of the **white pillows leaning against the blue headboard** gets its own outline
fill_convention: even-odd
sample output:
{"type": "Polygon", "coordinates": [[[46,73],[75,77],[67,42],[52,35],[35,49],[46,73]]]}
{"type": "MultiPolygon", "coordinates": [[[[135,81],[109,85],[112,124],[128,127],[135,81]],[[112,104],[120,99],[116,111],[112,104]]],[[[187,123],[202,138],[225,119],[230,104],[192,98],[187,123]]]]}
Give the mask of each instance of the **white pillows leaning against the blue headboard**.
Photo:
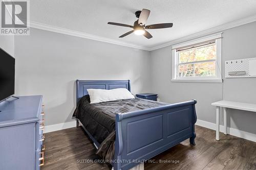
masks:
{"type": "Polygon", "coordinates": [[[87,89],[91,103],[109,102],[121,99],[134,99],[134,95],[126,88],[87,89]]]}

